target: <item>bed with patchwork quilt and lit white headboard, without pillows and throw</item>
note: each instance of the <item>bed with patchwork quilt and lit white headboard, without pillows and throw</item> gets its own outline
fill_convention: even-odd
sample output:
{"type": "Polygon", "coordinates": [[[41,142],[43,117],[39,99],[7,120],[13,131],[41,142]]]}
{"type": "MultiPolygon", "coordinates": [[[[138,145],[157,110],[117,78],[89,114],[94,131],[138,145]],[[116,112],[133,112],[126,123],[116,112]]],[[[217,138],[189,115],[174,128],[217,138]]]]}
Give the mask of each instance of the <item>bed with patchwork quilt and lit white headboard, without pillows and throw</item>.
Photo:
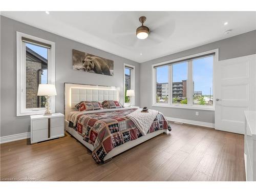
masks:
{"type": "Polygon", "coordinates": [[[137,108],[77,111],[80,101],[120,100],[117,87],[65,83],[66,131],[92,152],[96,163],[112,157],[159,134],[171,130],[162,113],[158,113],[147,133],[140,132],[136,122],[128,118],[137,108]]]}

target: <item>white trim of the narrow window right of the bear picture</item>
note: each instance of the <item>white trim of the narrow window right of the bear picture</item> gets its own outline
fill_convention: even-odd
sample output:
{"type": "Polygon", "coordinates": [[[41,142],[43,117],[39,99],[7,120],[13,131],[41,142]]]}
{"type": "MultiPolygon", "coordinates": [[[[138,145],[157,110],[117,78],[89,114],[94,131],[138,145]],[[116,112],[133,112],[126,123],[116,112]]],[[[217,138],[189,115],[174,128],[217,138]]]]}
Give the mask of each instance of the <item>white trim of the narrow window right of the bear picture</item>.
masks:
{"type": "MultiPolygon", "coordinates": [[[[135,105],[135,96],[131,97],[131,101],[130,103],[125,103],[125,67],[130,67],[133,68],[133,70],[131,70],[131,90],[134,90],[135,92],[135,66],[123,63],[123,106],[130,106],[130,105],[135,105]]],[[[135,92],[136,95],[136,92],[135,92]]]]}

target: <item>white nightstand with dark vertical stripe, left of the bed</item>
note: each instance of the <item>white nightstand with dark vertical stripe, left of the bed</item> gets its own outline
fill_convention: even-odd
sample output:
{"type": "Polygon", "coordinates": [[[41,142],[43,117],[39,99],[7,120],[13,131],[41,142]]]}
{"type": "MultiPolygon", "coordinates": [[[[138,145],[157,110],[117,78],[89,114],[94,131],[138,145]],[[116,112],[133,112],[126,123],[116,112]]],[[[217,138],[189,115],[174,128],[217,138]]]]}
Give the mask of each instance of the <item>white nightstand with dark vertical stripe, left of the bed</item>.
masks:
{"type": "Polygon", "coordinates": [[[64,115],[53,113],[52,115],[31,115],[30,142],[36,143],[65,136],[64,115]]]}

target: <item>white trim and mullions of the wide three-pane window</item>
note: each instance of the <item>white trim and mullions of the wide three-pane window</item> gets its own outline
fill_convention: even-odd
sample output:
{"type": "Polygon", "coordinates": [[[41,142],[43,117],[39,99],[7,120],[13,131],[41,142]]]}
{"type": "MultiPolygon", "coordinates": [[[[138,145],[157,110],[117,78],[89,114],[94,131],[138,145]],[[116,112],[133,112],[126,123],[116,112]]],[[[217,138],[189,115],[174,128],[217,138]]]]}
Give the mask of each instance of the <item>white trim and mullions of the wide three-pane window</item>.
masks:
{"type": "MultiPolygon", "coordinates": [[[[214,56],[214,62],[213,62],[213,66],[216,65],[216,63],[219,61],[219,49],[214,49],[214,50],[209,50],[209,51],[205,51],[202,53],[198,53],[198,54],[194,54],[194,55],[189,55],[189,56],[185,56],[182,58],[177,58],[177,59],[173,59],[173,60],[168,60],[168,61],[164,61],[164,62],[160,62],[160,63],[155,63],[152,65],[152,106],[161,106],[161,107],[165,107],[165,108],[181,108],[181,109],[196,109],[196,110],[207,110],[207,111],[215,111],[215,68],[213,67],[213,74],[212,74],[212,100],[213,100],[213,104],[212,106],[203,106],[203,105],[193,105],[193,76],[192,76],[192,72],[193,72],[193,68],[192,65],[187,65],[188,67],[188,77],[187,77],[187,84],[189,84],[189,86],[187,86],[187,104],[173,104],[172,103],[172,68],[169,67],[168,68],[168,83],[169,83],[169,92],[168,92],[168,103],[156,103],[156,70],[154,67],[157,66],[161,66],[170,62],[176,62],[176,61],[180,61],[180,60],[184,60],[184,59],[189,59],[191,57],[197,57],[200,55],[206,55],[209,53],[215,53],[214,56]],[[192,96],[192,98],[191,98],[192,96]]],[[[192,61],[188,61],[188,62],[192,62],[192,61]]],[[[188,63],[189,64],[189,63],[188,63]]]]}

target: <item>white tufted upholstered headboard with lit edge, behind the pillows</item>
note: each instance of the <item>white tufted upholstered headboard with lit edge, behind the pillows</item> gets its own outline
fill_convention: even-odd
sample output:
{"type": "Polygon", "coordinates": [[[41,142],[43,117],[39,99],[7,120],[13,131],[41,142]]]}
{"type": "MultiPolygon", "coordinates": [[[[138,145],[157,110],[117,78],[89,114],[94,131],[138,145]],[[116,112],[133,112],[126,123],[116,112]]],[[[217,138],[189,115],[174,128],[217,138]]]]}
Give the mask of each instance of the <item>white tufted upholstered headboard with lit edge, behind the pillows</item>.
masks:
{"type": "Polygon", "coordinates": [[[92,86],[88,84],[65,83],[65,118],[80,101],[104,100],[120,101],[120,88],[110,86],[92,86]]]}

